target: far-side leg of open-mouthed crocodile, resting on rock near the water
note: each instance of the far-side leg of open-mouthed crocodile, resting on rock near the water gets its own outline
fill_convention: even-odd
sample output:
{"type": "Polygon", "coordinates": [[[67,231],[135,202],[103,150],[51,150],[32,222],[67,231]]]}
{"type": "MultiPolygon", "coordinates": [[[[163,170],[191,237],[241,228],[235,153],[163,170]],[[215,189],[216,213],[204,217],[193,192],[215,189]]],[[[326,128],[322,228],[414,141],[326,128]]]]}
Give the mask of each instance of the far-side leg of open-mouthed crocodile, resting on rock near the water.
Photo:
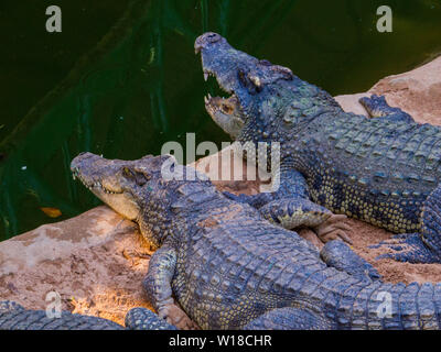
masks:
{"type": "Polygon", "coordinates": [[[372,118],[384,118],[389,121],[396,122],[415,122],[410,114],[406,113],[399,108],[390,107],[384,96],[373,95],[370,98],[364,97],[361,98],[358,101],[366,109],[367,113],[372,118]]]}

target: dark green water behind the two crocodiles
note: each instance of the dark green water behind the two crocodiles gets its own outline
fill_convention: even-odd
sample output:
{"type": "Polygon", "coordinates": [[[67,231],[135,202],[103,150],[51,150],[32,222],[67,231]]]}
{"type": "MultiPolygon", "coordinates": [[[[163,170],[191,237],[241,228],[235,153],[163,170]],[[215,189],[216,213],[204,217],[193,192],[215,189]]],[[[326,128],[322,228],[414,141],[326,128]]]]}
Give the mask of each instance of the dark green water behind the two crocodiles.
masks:
{"type": "Polygon", "coordinates": [[[0,240],[99,204],[71,177],[79,152],[138,158],[184,143],[186,132],[228,141],[204,110],[215,87],[204,82],[193,43],[205,31],[333,95],[351,94],[441,53],[441,4],[2,0],[0,240]],[[62,33],[45,31],[50,4],[62,9],[62,33]],[[376,31],[381,4],[394,11],[392,33],[376,31]]]}

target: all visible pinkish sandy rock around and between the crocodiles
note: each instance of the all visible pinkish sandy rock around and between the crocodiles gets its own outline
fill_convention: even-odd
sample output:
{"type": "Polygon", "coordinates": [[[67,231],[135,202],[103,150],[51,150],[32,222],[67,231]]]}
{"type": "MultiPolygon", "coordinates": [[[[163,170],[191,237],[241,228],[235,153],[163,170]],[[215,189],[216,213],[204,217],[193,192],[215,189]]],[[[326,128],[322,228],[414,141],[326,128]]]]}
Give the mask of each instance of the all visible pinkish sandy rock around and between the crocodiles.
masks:
{"type": "MultiPolygon", "coordinates": [[[[346,111],[366,114],[358,99],[370,94],[384,94],[391,106],[400,107],[419,122],[441,124],[441,57],[409,73],[381,79],[368,92],[338,96],[346,111]]],[[[232,160],[232,150],[222,151],[224,158],[209,156],[196,162],[196,167],[215,178],[222,170],[247,166],[232,160]],[[232,167],[236,165],[236,167],[232,167]]],[[[259,177],[235,182],[214,180],[222,190],[256,194],[259,177]]],[[[347,220],[354,250],[368,260],[385,280],[441,282],[441,265],[408,264],[389,260],[375,261],[384,253],[369,250],[369,244],[388,239],[391,233],[347,220]]],[[[321,245],[312,231],[301,234],[321,245]]],[[[384,251],[384,250],[383,250],[384,251]]],[[[26,308],[45,309],[47,293],[57,292],[63,308],[74,312],[99,316],[123,323],[132,307],[149,307],[142,295],[141,282],[147,273],[151,251],[137,227],[106,206],[92,209],[76,218],[42,226],[33,231],[0,243],[0,299],[13,299],[26,308]]]]}

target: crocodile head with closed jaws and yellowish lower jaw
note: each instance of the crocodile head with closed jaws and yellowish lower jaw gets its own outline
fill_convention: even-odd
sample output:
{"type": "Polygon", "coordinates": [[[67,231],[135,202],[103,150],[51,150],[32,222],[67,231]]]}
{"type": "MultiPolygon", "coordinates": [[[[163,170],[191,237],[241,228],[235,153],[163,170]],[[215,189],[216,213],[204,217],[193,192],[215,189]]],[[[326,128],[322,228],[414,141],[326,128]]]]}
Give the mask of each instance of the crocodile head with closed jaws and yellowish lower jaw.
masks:
{"type": "MultiPolygon", "coordinates": [[[[137,221],[142,234],[157,248],[162,242],[161,233],[142,227],[148,211],[165,208],[155,199],[161,193],[161,167],[170,155],[144,156],[137,161],[106,160],[93,153],[82,153],[71,163],[74,178],[78,178],[95,196],[121,216],[137,221]],[[151,202],[155,207],[150,207],[151,202]],[[151,209],[154,208],[154,209],[151,209]],[[147,209],[147,210],[146,210],[147,209]]],[[[151,215],[155,217],[155,215],[151,215]]]]}

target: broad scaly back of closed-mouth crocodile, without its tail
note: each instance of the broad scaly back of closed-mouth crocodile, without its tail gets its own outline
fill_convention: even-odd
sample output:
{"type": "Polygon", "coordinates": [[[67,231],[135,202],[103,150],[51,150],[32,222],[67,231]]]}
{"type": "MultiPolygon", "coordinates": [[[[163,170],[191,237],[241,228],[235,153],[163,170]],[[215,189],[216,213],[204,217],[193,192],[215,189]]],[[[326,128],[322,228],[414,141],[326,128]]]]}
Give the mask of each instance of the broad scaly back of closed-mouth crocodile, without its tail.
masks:
{"type": "Polygon", "coordinates": [[[326,268],[312,244],[247,205],[208,206],[186,231],[172,287],[203,329],[238,329],[272,308],[293,306],[298,288],[290,284],[326,268]]]}

